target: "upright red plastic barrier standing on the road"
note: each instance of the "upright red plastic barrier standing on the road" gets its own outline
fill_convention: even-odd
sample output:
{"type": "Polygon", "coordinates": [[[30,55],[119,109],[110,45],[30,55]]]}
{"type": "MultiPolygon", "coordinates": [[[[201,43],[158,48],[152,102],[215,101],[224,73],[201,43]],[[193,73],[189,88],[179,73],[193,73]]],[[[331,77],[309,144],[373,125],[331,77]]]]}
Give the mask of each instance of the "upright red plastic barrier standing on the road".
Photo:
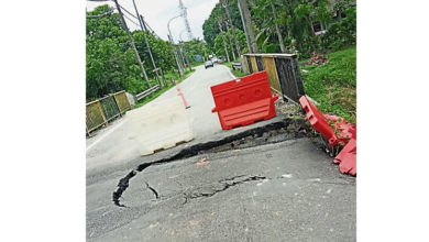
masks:
{"type": "Polygon", "coordinates": [[[268,120],[276,116],[266,72],[255,73],[211,87],[216,107],[223,130],[248,125],[258,120],[268,120]]]}

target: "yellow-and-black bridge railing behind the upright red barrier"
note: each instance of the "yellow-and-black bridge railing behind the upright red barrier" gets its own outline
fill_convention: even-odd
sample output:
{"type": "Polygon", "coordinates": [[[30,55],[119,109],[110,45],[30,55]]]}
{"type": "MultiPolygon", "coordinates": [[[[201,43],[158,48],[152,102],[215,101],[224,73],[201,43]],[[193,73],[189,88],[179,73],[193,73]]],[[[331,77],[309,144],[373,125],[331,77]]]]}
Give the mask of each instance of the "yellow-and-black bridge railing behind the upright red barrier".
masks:
{"type": "Polygon", "coordinates": [[[299,103],[305,95],[296,54],[244,54],[245,73],[266,70],[271,88],[284,100],[299,103]]]}

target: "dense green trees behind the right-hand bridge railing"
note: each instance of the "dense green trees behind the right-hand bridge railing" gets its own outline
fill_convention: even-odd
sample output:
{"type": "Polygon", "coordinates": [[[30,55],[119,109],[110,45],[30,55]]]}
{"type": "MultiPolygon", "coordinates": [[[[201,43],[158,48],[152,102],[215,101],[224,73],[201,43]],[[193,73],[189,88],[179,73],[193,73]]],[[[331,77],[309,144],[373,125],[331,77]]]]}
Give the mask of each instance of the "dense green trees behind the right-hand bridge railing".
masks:
{"type": "MultiPolygon", "coordinates": [[[[226,0],[233,24],[243,30],[237,0],[226,0]]],[[[309,57],[312,52],[328,52],[355,44],[356,12],[352,0],[253,0],[249,1],[253,29],[261,53],[279,53],[278,34],[282,35],[285,52],[296,52],[309,57]],[[278,28],[278,32],[276,31],[278,28]],[[317,28],[315,28],[317,26],[317,28]],[[317,31],[326,34],[317,34],[317,31]]],[[[354,1],[355,2],[355,1],[354,1]]],[[[218,20],[224,20],[226,12],[218,3],[202,25],[204,36],[213,53],[224,53],[220,42],[218,20]]],[[[227,41],[227,45],[229,42],[227,41]]],[[[241,46],[242,53],[248,48],[241,46]]]]}

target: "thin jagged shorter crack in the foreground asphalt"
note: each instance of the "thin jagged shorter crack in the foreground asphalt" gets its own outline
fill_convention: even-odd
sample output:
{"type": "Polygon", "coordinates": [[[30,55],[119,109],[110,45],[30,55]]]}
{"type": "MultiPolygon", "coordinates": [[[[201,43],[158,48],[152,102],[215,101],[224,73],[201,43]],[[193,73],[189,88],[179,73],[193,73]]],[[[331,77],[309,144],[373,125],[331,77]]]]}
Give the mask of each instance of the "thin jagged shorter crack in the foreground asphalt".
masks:
{"type": "Polygon", "coordinates": [[[240,176],[234,176],[234,177],[227,178],[227,179],[221,179],[217,184],[210,184],[209,186],[206,186],[206,187],[199,187],[199,188],[195,189],[194,191],[185,193],[184,194],[185,195],[185,202],[183,205],[187,204],[189,199],[196,199],[196,198],[201,198],[201,197],[209,198],[209,197],[212,197],[212,196],[217,195],[218,193],[222,193],[222,191],[224,191],[233,186],[249,183],[249,182],[261,180],[261,179],[266,179],[266,177],[260,176],[260,175],[255,175],[255,176],[240,175],[240,176]],[[242,178],[242,177],[245,177],[245,178],[242,178]]]}

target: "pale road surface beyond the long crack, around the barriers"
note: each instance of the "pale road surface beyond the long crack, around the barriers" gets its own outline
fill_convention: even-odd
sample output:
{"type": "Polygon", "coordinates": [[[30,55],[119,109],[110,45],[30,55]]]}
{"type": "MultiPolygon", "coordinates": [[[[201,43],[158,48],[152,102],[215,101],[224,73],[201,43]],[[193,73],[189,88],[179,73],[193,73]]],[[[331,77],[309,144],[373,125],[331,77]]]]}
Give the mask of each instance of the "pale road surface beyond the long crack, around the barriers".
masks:
{"type": "MultiPolygon", "coordinates": [[[[180,89],[190,105],[187,109],[193,120],[195,140],[202,140],[221,132],[217,113],[212,113],[215,102],[211,97],[210,87],[234,76],[223,65],[216,65],[213,68],[205,69],[197,66],[196,72],[186,80],[180,82],[180,89]]],[[[172,88],[161,95],[154,101],[161,101],[177,96],[177,89],[172,88]]],[[[120,164],[132,161],[140,156],[135,142],[133,142],[127,130],[128,117],[123,117],[102,130],[96,136],[87,140],[87,168],[120,164]]]]}

